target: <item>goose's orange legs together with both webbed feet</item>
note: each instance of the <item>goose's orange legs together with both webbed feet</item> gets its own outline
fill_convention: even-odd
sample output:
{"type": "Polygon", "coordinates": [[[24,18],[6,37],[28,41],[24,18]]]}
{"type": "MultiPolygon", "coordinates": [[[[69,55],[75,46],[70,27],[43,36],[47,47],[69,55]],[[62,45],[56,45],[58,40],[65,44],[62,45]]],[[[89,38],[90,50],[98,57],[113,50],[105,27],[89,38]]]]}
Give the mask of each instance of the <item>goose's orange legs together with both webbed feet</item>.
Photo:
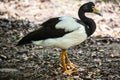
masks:
{"type": "Polygon", "coordinates": [[[61,53],[61,61],[62,61],[64,73],[66,75],[71,75],[73,72],[77,71],[77,69],[76,69],[77,66],[74,65],[73,63],[71,63],[70,60],[68,59],[66,50],[63,50],[61,53]],[[67,64],[66,64],[66,62],[67,62],[67,64]],[[68,66],[70,66],[71,69],[67,69],[68,66]]]}

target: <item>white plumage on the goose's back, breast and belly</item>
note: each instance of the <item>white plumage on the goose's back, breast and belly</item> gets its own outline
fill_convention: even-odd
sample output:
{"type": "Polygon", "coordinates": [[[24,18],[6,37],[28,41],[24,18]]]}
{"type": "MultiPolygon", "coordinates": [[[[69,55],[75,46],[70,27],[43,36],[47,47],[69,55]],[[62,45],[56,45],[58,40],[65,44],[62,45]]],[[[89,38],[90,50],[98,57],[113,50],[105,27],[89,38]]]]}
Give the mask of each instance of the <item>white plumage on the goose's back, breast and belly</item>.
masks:
{"type": "Polygon", "coordinates": [[[53,46],[62,49],[68,49],[86,40],[87,34],[83,25],[77,23],[72,17],[61,17],[60,22],[56,24],[56,29],[65,29],[65,31],[72,31],[63,37],[49,38],[46,40],[33,41],[36,45],[53,46]]]}

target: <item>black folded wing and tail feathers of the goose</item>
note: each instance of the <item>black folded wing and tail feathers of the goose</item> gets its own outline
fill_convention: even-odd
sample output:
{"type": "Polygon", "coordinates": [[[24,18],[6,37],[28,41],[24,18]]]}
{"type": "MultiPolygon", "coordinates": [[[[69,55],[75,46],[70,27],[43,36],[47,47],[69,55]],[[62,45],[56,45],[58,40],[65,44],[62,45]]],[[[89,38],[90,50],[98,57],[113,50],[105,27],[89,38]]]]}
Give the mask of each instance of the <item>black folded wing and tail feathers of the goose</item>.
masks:
{"type": "Polygon", "coordinates": [[[64,29],[56,29],[55,25],[59,22],[58,18],[52,18],[41,24],[41,28],[35,30],[25,37],[23,37],[17,45],[23,45],[31,43],[31,41],[45,40],[48,38],[58,38],[64,36],[66,33],[64,29]]]}

